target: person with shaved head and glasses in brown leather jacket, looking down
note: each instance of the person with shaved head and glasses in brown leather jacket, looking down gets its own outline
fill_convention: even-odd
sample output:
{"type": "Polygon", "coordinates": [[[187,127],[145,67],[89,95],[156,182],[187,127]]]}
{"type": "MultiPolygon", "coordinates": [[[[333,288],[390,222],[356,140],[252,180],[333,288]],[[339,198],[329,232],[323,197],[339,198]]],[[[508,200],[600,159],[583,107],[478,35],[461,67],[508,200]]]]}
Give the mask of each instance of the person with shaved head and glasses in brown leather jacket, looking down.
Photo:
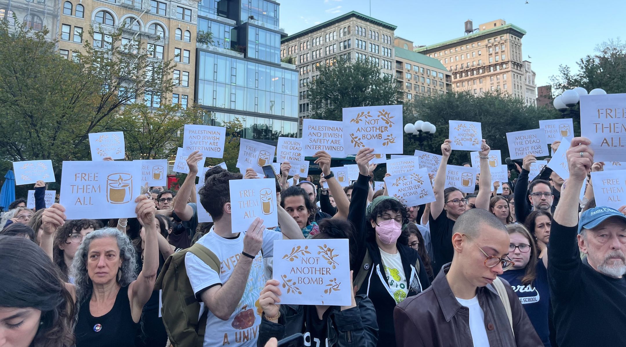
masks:
{"type": "Polygon", "coordinates": [[[505,225],[493,214],[480,208],[463,213],[453,228],[452,262],[430,288],[394,309],[398,347],[543,346],[509,283],[496,280],[513,265],[509,243],[505,225]],[[498,295],[498,287],[508,298],[498,295]]]}

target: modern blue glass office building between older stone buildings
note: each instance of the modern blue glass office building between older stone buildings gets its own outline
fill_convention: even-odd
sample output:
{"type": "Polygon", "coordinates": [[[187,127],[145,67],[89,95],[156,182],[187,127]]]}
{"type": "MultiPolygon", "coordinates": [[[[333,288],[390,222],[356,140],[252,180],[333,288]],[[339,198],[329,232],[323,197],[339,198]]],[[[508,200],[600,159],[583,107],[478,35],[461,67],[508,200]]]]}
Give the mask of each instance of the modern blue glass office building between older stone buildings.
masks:
{"type": "Polygon", "coordinates": [[[298,86],[295,66],[280,62],[279,8],[271,0],[203,0],[197,44],[195,101],[210,112],[205,122],[239,119],[242,137],[275,142],[297,135],[298,86]]]}

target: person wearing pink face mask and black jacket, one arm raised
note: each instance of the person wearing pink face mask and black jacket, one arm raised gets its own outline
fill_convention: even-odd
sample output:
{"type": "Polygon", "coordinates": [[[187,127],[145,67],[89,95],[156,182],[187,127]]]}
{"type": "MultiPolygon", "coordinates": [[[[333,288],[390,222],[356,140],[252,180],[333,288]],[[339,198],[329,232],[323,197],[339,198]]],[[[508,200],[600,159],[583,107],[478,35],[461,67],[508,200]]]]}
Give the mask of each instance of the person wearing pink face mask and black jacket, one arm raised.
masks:
{"type": "Polygon", "coordinates": [[[371,298],[378,323],[377,346],[396,346],[393,310],[409,296],[430,286],[418,252],[408,246],[407,208],[397,198],[385,195],[367,206],[369,161],[373,149],[356,156],[359,178],[354,183],[348,220],[355,227],[357,255],[351,262],[357,295],[371,298]]]}

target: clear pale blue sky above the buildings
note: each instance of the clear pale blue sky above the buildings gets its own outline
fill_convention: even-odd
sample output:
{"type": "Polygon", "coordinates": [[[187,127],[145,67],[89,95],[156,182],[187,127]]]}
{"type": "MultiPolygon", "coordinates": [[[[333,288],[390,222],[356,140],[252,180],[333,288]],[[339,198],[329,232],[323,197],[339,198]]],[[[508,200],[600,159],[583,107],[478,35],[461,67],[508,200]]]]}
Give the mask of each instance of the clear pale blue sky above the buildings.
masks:
{"type": "MultiPolygon", "coordinates": [[[[294,34],[350,11],[369,15],[368,0],[278,0],[280,26],[294,34]]],[[[522,53],[532,62],[537,86],[550,83],[560,64],[575,68],[583,56],[608,39],[626,39],[625,0],[371,0],[371,16],[398,26],[396,36],[434,44],[463,36],[495,19],[525,29],[522,53]],[[480,5],[480,7],[478,6],[480,5]]]]}

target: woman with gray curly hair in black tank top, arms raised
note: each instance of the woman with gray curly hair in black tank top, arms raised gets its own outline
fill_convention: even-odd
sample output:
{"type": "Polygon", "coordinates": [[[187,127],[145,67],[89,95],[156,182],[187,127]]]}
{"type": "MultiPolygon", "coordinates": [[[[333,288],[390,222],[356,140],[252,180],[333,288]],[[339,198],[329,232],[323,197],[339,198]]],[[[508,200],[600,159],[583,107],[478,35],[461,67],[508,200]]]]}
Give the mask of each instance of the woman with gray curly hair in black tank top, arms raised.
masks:
{"type": "MultiPolygon", "coordinates": [[[[116,228],[88,233],[76,250],[71,265],[78,306],[76,347],[135,346],[141,311],[155,285],[159,252],[155,205],[145,195],[135,202],[145,240],[143,268],[138,276],[135,247],[116,228]]],[[[64,211],[58,203],[47,208],[43,215],[44,230],[63,225],[64,211]]]]}

